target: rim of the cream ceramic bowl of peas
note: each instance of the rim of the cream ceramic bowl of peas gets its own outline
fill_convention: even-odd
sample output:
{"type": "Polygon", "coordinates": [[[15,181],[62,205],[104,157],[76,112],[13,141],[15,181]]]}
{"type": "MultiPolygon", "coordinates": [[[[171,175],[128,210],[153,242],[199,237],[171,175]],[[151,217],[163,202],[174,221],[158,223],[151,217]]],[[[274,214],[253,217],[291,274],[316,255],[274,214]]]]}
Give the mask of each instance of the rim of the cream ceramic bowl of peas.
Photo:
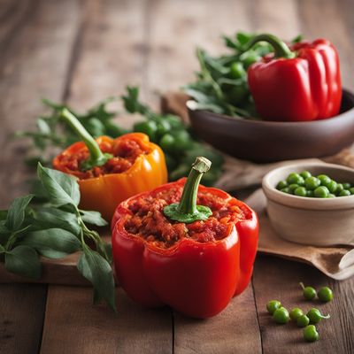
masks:
{"type": "Polygon", "coordinates": [[[266,173],[262,179],[262,189],[266,194],[266,198],[274,203],[282,204],[295,209],[305,209],[312,211],[328,211],[328,210],[348,210],[354,209],[354,195],[341,196],[335,198],[312,198],[308,196],[294,196],[286,194],[276,189],[270,182],[274,174],[277,174],[283,170],[304,170],[309,168],[330,168],[332,170],[342,170],[353,174],[354,181],[354,169],[343,166],[328,164],[326,162],[298,162],[289,165],[282,165],[274,168],[272,171],[266,173]]]}

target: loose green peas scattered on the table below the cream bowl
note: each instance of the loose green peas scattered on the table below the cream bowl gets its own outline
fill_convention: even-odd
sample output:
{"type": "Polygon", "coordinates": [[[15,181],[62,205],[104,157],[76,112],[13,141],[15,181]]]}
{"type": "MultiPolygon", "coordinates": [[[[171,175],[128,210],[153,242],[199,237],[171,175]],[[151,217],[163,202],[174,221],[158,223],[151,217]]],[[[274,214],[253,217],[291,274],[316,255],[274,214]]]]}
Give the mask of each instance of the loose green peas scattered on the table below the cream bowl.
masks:
{"type": "MultiPolygon", "coordinates": [[[[312,287],[304,287],[303,283],[300,283],[303,288],[304,298],[307,300],[313,300],[316,296],[319,297],[319,301],[327,303],[333,299],[333,292],[328,287],[319,289],[317,293],[312,287]]],[[[286,324],[290,320],[293,320],[297,327],[303,327],[304,340],[306,342],[316,342],[319,340],[319,332],[317,331],[316,324],[321,319],[329,319],[327,314],[323,315],[319,309],[312,307],[308,312],[304,313],[299,307],[294,307],[290,312],[282,306],[279,300],[271,300],[266,304],[266,311],[269,312],[273,320],[279,324],[286,324]]]]}

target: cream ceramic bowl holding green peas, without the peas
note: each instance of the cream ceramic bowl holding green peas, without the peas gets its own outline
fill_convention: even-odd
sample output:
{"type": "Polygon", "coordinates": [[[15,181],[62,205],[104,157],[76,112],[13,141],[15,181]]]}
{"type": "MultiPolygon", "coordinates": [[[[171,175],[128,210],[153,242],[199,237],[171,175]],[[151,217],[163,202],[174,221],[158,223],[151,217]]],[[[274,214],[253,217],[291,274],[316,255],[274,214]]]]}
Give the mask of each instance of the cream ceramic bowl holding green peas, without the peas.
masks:
{"type": "Polygon", "coordinates": [[[267,173],[262,187],[274,231],[291,242],[315,246],[354,245],[354,196],[310,198],[275,189],[289,173],[304,170],[354,184],[354,169],[326,163],[287,165],[267,173]]]}

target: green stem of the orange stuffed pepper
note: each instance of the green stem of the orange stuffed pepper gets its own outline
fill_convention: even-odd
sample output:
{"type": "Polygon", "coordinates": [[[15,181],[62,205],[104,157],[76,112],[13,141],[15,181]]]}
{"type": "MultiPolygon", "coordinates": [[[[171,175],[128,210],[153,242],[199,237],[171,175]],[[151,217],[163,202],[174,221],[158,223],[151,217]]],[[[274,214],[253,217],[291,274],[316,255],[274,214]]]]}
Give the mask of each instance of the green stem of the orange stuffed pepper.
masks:
{"type": "Polygon", "coordinates": [[[81,170],[89,170],[94,166],[104,165],[108,159],[112,158],[111,154],[105,154],[101,151],[96,140],[89,134],[89,132],[82,126],[79,119],[77,119],[72,112],[64,108],[61,112],[61,119],[65,121],[75,132],[80,136],[81,140],[89,149],[89,159],[83,161],[81,170]]]}

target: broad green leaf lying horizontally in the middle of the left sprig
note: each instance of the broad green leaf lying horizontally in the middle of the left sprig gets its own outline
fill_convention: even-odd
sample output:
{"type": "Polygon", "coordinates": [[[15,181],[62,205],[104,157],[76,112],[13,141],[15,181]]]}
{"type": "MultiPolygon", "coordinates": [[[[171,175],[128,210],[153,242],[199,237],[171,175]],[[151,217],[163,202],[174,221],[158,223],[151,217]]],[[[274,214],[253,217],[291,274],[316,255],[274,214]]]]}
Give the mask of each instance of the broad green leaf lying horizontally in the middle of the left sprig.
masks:
{"type": "Polygon", "coordinates": [[[61,228],[30,232],[23,237],[19,244],[32,247],[47,258],[63,258],[81,250],[79,239],[61,228]]]}

